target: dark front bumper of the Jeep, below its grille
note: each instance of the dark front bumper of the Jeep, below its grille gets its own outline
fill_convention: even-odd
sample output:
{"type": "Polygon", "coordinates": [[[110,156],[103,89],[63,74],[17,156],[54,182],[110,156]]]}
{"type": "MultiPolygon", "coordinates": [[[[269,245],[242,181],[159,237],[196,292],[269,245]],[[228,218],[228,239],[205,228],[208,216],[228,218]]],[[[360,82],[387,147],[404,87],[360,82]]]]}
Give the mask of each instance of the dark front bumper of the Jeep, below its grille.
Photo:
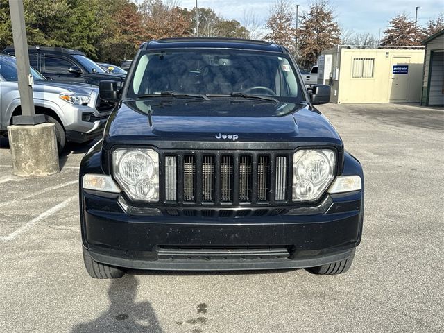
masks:
{"type": "Polygon", "coordinates": [[[83,246],[96,262],[126,268],[321,266],[349,257],[361,240],[361,191],[328,195],[314,210],[247,217],[130,215],[119,194],[84,189],[80,200],[83,246]]]}

